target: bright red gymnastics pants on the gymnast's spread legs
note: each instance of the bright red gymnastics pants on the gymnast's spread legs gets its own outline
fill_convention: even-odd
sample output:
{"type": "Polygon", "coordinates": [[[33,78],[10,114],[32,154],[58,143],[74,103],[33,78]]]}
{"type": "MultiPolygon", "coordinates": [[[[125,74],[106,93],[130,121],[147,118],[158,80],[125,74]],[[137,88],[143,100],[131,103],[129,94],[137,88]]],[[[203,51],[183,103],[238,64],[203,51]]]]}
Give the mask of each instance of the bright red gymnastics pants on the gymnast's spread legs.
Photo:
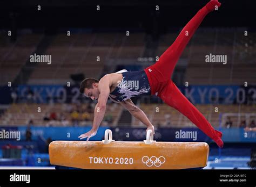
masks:
{"type": "Polygon", "coordinates": [[[220,6],[220,3],[217,0],[212,0],[200,9],[183,28],[173,44],[160,56],[159,61],[144,70],[149,79],[152,95],[157,95],[167,105],[183,113],[201,131],[213,139],[219,147],[223,147],[222,133],[214,130],[203,114],[190,103],[171,80],[173,69],[188,41],[204,17],[214,10],[216,5],[220,6]]]}

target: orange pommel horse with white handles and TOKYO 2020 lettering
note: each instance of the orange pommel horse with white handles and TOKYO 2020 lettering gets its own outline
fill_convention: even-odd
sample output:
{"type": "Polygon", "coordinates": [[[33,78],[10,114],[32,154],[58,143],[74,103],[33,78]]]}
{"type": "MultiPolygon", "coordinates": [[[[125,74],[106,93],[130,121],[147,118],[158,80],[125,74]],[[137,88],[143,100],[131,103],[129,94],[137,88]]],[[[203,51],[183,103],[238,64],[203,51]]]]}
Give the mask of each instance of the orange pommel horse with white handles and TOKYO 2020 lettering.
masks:
{"type": "Polygon", "coordinates": [[[82,169],[188,169],[207,165],[205,142],[156,142],[151,130],[146,140],[114,141],[105,131],[102,141],[53,141],[50,163],[82,169]],[[109,136],[109,137],[108,137],[109,136]]]}

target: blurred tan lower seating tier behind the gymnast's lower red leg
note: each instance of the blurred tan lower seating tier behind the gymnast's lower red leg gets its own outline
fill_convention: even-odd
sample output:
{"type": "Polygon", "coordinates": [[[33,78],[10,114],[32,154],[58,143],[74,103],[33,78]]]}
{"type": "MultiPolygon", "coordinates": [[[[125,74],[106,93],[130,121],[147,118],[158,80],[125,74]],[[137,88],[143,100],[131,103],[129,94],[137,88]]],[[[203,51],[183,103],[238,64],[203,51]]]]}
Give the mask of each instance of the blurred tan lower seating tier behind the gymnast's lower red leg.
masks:
{"type": "MultiPolygon", "coordinates": [[[[197,104],[195,105],[197,109],[203,113],[206,119],[212,124],[212,126],[218,128],[220,126],[220,113],[256,113],[255,105],[211,105],[211,104],[197,104]],[[215,112],[215,107],[218,107],[218,112],[215,112]],[[240,109],[239,109],[240,107],[240,109]]],[[[166,104],[141,104],[140,109],[142,109],[145,114],[149,117],[152,124],[156,126],[165,127],[196,127],[193,123],[187,119],[183,114],[173,109],[166,104]],[[157,109],[158,107],[158,109],[157,109]],[[166,116],[170,114],[170,117],[166,116]],[[170,124],[168,124],[170,121],[170,124]],[[159,124],[159,125],[158,125],[159,124]]],[[[233,127],[239,127],[240,121],[238,117],[231,117],[233,121],[233,127]]],[[[244,120],[243,117],[240,120],[244,120]]],[[[255,120],[255,119],[254,119],[255,120]]],[[[225,121],[224,121],[225,123],[225,121]]],[[[132,126],[144,126],[140,121],[133,118],[132,126]]]]}

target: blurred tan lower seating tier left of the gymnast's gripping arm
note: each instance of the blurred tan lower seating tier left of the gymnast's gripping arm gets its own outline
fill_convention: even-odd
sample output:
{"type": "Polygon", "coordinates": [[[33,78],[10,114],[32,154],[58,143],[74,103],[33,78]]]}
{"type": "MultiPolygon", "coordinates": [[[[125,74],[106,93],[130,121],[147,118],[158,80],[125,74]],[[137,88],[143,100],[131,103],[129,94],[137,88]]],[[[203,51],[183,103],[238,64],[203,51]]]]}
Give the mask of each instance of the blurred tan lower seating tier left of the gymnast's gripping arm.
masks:
{"type": "MultiPolygon", "coordinates": [[[[88,104],[83,104],[87,106],[88,104]]],[[[1,126],[25,126],[29,124],[29,121],[33,121],[33,126],[72,126],[72,120],[69,108],[72,108],[71,104],[12,104],[8,110],[0,117],[1,126]],[[41,112],[38,112],[38,107],[41,107],[41,112]],[[63,113],[68,123],[65,125],[60,120],[44,121],[45,113],[56,112],[57,116],[63,113]]],[[[120,112],[122,112],[120,105],[111,103],[107,105],[106,116],[111,115],[113,118],[112,126],[117,124],[120,112]]],[[[79,118],[82,114],[79,114],[79,118]]],[[[93,113],[90,115],[90,120],[87,123],[81,121],[79,125],[92,125],[93,113]]]]}

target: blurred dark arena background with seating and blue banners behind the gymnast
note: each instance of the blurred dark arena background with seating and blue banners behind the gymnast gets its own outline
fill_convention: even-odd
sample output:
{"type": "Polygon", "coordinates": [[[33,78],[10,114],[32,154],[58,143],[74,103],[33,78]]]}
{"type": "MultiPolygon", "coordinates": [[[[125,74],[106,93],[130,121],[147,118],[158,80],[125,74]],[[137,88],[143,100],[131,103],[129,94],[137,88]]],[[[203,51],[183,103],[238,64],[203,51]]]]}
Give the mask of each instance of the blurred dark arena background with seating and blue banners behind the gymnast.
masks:
{"type": "MultiPolygon", "coordinates": [[[[150,66],[206,2],[1,2],[0,126],[2,132],[21,132],[21,140],[1,138],[0,168],[54,169],[49,143],[79,140],[92,125],[96,103],[79,93],[80,81],[150,66]],[[50,55],[51,62],[31,62],[35,54],[50,55]]],[[[132,100],[156,127],[157,141],[205,141],[205,169],[249,169],[255,167],[256,142],[255,6],[220,2],[194,34],[172,79],[223,132],[224,148],[159,98],[132,100]],[[210,54],[227,55],[227,63],[206,63],[210,54]],[[188,131],[197,132],[197,139],[177,138],[188,131]]],[[[145,139],[145,126],[110,100],[91,140],[102,140],[107,128],[115,140],[145,139]]]]}

